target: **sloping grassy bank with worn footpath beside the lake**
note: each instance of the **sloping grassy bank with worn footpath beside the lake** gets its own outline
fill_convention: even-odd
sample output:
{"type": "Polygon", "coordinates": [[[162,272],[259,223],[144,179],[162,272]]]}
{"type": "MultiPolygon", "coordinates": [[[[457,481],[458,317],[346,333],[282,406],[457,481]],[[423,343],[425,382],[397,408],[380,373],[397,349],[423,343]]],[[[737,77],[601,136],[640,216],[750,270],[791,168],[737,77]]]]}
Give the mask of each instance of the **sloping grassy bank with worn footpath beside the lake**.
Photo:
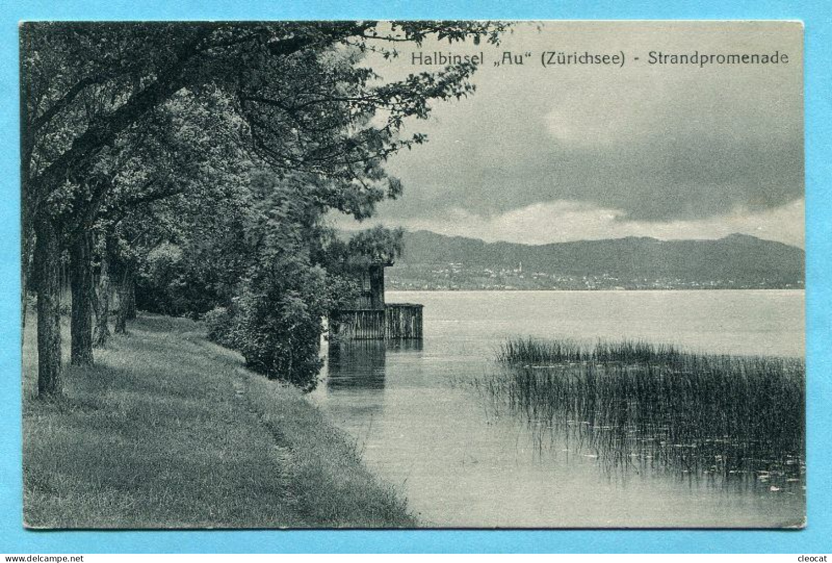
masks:
{"type": "MultiPolygon", "coordinates": [[[[24,521],[34,527],[414,526],[300,391],[242,367],[201,325],[141,316],[40,401],[23,381],[24,521]]],[[[68,335],[65,341],[68,346],[68,335]]]]}

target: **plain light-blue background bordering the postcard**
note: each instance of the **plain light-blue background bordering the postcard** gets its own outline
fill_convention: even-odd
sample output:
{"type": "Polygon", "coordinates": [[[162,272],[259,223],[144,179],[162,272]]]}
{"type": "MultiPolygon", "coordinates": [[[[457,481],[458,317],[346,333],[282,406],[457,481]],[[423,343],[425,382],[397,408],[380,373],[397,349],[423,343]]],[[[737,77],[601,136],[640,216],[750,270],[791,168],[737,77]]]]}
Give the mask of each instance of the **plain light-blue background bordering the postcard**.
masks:
{"type": "Polygon", "coordinates": [[[8,2],[0,0],[0,552],[832,551],[830,2],[8,2]],[[672,4],[678,5],[673,6],[672,4]],[[349,5],[348,5],[349,4],[349,5]],[[25,531],[22,528],[17,22],[24,19],[800,19],[805,22],[809,524],[802,531],[25,531]]]}

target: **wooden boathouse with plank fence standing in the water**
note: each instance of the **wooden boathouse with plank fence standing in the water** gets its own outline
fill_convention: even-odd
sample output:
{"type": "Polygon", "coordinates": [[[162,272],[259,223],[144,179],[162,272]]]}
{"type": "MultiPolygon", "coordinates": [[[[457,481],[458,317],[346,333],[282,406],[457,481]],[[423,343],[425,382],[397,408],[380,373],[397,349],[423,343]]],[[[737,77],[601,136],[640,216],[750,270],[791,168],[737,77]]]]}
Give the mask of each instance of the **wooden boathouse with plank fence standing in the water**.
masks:
{"type": "Polygon", "coordinates": [[[422,305],[384,302],[384,268],[375,262],[359,272],[360,294],[354,308],[329,319],[330,335],[339,340],[420,340],[422,305]]]}

